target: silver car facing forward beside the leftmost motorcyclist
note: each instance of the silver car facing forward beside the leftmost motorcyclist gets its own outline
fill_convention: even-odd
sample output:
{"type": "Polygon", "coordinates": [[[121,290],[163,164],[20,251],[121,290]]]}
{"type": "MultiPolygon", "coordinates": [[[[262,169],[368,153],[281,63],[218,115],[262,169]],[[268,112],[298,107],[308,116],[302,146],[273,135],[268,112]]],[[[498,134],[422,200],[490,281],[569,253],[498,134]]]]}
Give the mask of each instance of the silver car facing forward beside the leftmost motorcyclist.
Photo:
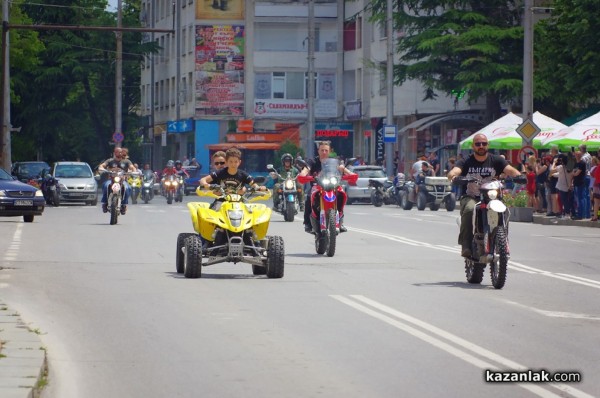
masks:
{"type": "Polygon", "coordinates": [[[61,202],[98,204],[98,183],[89,164],[85,162],[56,162],[52,176],[60,184],[61,202]]]}

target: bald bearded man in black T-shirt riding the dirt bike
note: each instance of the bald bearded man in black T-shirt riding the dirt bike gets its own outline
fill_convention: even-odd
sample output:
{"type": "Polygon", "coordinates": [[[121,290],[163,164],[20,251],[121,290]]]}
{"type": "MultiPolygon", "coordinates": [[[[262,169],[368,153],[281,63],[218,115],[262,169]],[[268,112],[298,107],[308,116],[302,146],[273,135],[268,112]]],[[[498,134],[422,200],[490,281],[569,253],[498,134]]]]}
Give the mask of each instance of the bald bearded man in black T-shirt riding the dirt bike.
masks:
{"type": "MultiPolygon", "coordinates": [[[[521,176],[519,170],[512,167],[504,157],[488,153],[488,139],[485,134],[473,137],[473,154],[466,159],[460,159],[448,173],[448,179],[453,181],[458,176],[474,177],[480,181],[498,179],[504,173],[509,177],[521,176]]],[[[460,199],[460,233],[458,244],[461,245],[461,255],[470,258],[471,242],[473,241],[473,211],[479,200],[479,185],[469,183],[466,192],[460,199]]]]}

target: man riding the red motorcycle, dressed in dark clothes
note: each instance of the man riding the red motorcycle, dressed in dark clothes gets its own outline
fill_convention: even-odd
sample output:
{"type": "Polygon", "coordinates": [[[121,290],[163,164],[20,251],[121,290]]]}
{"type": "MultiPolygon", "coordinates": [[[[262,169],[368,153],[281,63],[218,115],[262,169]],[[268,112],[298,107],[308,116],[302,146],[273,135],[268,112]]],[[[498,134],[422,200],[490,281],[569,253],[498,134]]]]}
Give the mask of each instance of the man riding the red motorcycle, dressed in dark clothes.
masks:
{"type": "MultiPolygon", "coordinates": [[[[321,162],[329,159],[330,152],[331,152],[331,143],[329,141],[319,142],[318,143],[319,155],[316,156],[314,159],[309,159],[307,162],[308,167],[303,168],[299,175],[306,176],[306,175],[310,174],[313,177],[316,177],[317,175],[319,175],[319,173],[321,173],[321,170],[322,170],[321,162]]],[[[354,174],[353,172],[348,170],[343,164],[341,164],[338,167],[338,170],[342,174],[354,174]]],[[[318,206],[318,203],[319,203],[319,194],[314,189],[314,185],[315,185],[315,182],[312,182],[311,186],[313,187],[313,189],[311,189],[310,195],[306,195],[306,201],[304,203],[304,231],[308,232],[309,234],[312,234],[312,232],[313,232],[312,225],[310,223],[310,213],[311,213],[311,209],[312,209],[311,197],[312,197],[312,203],[314,203],[315,206],[318,206]]],[[[342,191],[342,192],[340,192],[340,194],[337,195],[337,208],[338,208],[338,211],[340,212],[340,232],[348,231],[348,229],[346,229],[346,227],[343,224],[343,222],[344,222],[344,205],[345,204],[346,204],[346,193],[342,191]]],[[[315,214],[319,214],[318,207],[315,207],[314,209],[312,209],[312,211],[314,211],[315,214]]]]}

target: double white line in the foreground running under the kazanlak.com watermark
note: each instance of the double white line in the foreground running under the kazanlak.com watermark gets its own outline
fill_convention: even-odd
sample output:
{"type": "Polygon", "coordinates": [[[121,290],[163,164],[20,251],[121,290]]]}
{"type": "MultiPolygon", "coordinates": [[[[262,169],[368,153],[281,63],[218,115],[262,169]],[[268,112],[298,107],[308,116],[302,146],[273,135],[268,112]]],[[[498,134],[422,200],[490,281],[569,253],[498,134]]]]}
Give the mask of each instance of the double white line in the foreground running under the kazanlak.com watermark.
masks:
{"type": "MultiPolygon", "coordinates": [[[[380,303],[378,303],[374,300],[371,300],[367,297],[364,297],[361,295],[350,295],[349,297],[351,297],[351,299],[348,297],[341,296],[341,295],[331,295],[331,297],[358,310],[358,311],[361,311],[369,316],[372,316],[373,318],[379,319],[382,322],[385,322],[391,326],[394,326],[400,330],[403,330],[404,332],[406,332],[418,339],[421,339],[421,340],[425,341],[426,343],[433,345],[434,347],[437,347],[443,351],[446,351],[447,353],[454,355],[455,357],[462,359],[463,361],[466,361],[480,369],[499,370],[500,368],[496,365],[493,365],[489,362],[486,362],[484,360],[481,360],[481,359],[475,357],[474,355],[470,354],[467,351],[470,351],[473,354],[479,355],[480,357],[483,357],[483,358],[487,359],[488,361],[495,362],[495,363],[499,364],[500,366],[503,366],[504,368],[508,368],[508,369],[515,370],[515,371],[525,371],[528,369],[524,365],[521,365],[521,364],[514,362],[508,358],[505,358],[499,354],[489,351],[483,347],[480,347],[474,343],[471,343],[468,340],[458,337],[450,332],[447,332],[443,329],[433,326],[427,322],[421,321],[410,315],[407,315],[400,311],[397,311],[391,307],[380,304],[380,303]],[[365,305],[363,305],[363,304],[365,304],[365,305]],[[369,306],[369,307],[367,307],[367,306],[369,306]],[[373,308],[376,309],[377,311],[375,311],[373,308]],[[388,315],[391,315],[391,316],[388,316],[388,315]],[[396,319],[394,319],[394,318],[396,318],[396,319]],[[413,326],[410,326],[407,323],[400,322],[398,319],[405,321],[407,323],[410,323],[421,329],[424,329],[429,334],[427,334],[424,331],[419,330],[413,326]],[[434,337],[432,335],[437,336],[437,337],[434,337]],[[443,341],[442,339],[447,340],[459,347],[462,347],[464,350],[456,348],[456,347],[448,344],[447,342],[443,341]]],[[[539,387],[538,385],[535,385],[535,384],[526,384],[526,383],[515,383],[515,384],[518,385],[519,387],[522,387],[526,390],[531,391],[532,393],[534,393],[540,397],[559,397],[559,395],[553,394],[552,392],[550,392],[542,387],[539,387]]],[[[578,398],[592,398],[591,395],[589,395],[583,391],[577,390],[576,388],[572,388],[566,384],[562,384],[562,383],[549,383],[547,385],[547,387],[556,388],[559,391],[561,391],[562,393],[567,393],[567,394],[570,394],[571,396],[578,397],[578,398]]]]}

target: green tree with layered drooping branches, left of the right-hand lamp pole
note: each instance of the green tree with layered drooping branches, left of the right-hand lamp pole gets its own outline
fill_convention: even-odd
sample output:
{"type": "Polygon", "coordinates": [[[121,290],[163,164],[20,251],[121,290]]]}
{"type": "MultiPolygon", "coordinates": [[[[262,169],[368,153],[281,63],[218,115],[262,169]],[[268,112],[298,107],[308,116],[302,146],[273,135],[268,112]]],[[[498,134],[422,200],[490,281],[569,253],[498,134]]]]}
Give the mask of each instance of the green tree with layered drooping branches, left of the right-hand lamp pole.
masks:
{"type": "MultiPolygon", "coordinates": [[[[385,23],[386,1],[371,6],[373,20],[385,23]]],[[[394,84],[418,80],[426,99],[435,98],[434,90],[484,97],[490,120],[500,116],[501,103],[520,98],[522,1],[395,0],[393,15],[394,30],[402,32],[394,84]]]]}

